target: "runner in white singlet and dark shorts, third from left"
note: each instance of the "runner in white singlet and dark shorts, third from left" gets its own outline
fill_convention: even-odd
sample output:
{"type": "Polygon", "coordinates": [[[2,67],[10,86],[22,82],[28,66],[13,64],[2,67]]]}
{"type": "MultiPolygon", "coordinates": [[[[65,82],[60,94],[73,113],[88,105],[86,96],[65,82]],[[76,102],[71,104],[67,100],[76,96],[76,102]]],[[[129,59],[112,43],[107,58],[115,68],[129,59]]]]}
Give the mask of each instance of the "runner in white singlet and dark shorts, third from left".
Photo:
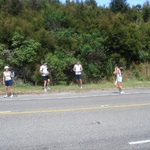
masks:
{"type": "Polygon", "coordinates": [[[73,67],[73,71],[75,72],[75,79],[77,84],[79,85],[80,88],[82,88],[82,65],[80,64],[80,62],[78,61],[74,67],[73,67]]]}

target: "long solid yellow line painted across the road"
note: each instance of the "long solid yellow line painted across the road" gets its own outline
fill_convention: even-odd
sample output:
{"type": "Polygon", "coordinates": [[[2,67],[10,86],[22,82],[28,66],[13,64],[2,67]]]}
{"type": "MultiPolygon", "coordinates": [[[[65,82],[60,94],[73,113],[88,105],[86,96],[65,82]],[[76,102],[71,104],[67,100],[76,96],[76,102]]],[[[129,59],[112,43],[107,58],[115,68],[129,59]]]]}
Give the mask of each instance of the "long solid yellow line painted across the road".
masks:
{"type": "Polygon", "coordinates": [[[19,114],[36,114],[36,113],[55,113],[55,112],[69,112],[69,111],[85,111],[85,110],[98,110],[108,108],[126,108],[126,107],[141,107],[150,106],[150,103],[143,104],[126,104],[126,105],[114,105],[114,106],[97,106],[97,107],[84,107],[84,108],[68,108],[68,109],[54,109],[54,110],[33,110],[33,111],[22,111],[22,112],[0,112],[0,115],[19,115],[19,114]]]}

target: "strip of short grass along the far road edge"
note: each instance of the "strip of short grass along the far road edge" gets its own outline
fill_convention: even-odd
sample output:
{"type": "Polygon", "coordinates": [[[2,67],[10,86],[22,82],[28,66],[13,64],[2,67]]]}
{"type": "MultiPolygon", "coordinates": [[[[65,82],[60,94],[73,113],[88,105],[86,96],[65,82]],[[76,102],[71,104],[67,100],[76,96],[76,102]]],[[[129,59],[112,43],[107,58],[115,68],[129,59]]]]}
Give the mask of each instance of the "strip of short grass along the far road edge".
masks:
{"type": "MultiPolygon", "coordinates": [[[[150,88],[150,81],[129,80],[122,83],[124,89],[129,88],[150,88]]],[[[5,94],[5,87],[0,86],[0,95],[5,94]]],[[[76,84],[74,85],[55,85],[51,86],[51,91],[48,93],[59,92],[80,92],[88,90],[111,90],[116,89],[113,82],[102,82],[99,84],[83,84],[83,89],[80,89],[76,84]]],[[[42,86],[31,86],[25,84],[18,84],[13,86],[13,91],[16,94],[44,94],[42,86]]]]}

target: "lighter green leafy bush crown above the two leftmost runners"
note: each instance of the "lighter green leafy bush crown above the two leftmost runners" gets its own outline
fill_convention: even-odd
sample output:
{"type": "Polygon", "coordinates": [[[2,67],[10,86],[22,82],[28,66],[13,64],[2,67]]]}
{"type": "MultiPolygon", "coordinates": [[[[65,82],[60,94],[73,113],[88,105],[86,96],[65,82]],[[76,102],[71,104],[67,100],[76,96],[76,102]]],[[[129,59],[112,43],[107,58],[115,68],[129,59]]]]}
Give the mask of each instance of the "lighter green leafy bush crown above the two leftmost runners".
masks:
{"type": "Polygon", "coordinates": [[[9,62],[17,67],[22,67],[34,62],[40,44],[31,38],[14,33],[11,46],[9,62]]]}

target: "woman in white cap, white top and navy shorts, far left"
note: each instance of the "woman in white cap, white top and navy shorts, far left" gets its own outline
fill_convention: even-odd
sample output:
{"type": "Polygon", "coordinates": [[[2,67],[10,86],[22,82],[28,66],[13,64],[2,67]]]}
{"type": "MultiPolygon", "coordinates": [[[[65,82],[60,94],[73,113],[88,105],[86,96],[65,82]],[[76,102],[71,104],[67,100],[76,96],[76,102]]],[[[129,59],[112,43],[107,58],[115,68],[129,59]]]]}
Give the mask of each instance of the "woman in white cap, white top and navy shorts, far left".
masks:
{"type": "Polygon", "coordinates": [[[5,71],[3,72],[3,84],[5,85],[5,93],[6,95],[4,98],[8,97],[8,92],[10,91],[11,98],[13,97],[13,91],[12,91],[12,74],[8,70],[9,67],[5,66],[4,67],[5,71]]]}

